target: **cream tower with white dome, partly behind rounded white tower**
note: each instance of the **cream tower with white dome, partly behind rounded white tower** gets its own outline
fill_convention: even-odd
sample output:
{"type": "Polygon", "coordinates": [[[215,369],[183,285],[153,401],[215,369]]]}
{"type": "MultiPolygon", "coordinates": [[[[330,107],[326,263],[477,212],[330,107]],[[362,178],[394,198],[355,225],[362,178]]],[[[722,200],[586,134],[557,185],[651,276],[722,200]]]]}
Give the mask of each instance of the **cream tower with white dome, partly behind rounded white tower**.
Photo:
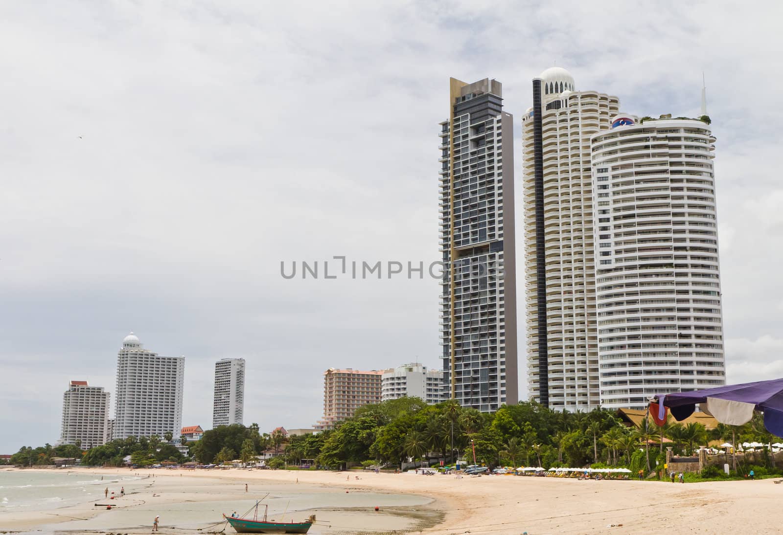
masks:
{"type": "Polygon", "coordinates": [[[619,99],[577,91],[552,67],[533,79],[532,100],[522,117],[529,397],[590,411],[601,404],[590,136],[608,130],[619,99]]]}

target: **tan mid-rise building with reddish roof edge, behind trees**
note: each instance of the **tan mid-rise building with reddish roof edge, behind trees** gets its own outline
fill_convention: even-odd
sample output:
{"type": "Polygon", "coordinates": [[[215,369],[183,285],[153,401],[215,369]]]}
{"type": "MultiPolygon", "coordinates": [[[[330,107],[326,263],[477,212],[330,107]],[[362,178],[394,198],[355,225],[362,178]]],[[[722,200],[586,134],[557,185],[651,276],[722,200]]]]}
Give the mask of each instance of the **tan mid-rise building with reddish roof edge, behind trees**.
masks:
{"type": "Polygon", "coordinates": [[[315,429],[334,429],[337,422],[351,418],[359,407],[381,403],[381,375],[372,370],[360,372],[352,368],[323,372],[323,419],[315,429]]]}

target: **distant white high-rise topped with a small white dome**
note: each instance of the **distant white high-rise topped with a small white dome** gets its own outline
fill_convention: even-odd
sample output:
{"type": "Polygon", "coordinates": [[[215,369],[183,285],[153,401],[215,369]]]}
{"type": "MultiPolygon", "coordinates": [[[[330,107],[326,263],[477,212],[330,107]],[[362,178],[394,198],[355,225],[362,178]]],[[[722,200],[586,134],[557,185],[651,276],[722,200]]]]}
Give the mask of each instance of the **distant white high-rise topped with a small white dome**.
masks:
{"type": "Polygon", "coordinates": [[[117,353],[114,439],[164,436],[182,429],[185,357],[161,357],[143,348],[132,332],[117,353]]]}

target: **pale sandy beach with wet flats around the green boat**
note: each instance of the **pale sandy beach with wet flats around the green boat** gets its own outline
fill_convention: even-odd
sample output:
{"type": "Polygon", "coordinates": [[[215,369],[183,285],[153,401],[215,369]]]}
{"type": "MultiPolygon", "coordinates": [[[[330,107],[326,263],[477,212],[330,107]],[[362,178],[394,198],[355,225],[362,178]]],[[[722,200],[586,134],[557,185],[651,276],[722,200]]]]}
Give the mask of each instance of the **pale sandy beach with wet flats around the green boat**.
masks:
{"type": "MultiPolygon", "coordinates": [[[[79,475],[142,479],[125,485],[127,495],[110,502],[115,504],[112,511],[91,501],[58,509],[0,512],[2,531],[150,533],[151,520],[160,514],[162,533],[186,533],[208,526],[204,519],[218,522],[219,511],[229,514],[273,492],[279,500],[270,504],[270,514],[282,509],[283,494],[288,504],[298,497],[333,504],[322,507],[317,515],[340,518],[340,525],[330,526],[327,518],[311,533],[359,533],[362,528],[364,533],[433,535],[779,533],[777,512],[783,494],[783,485],[774,484],[773,479],[680,484],[516,476],[456,479],[373,472],[70,470],[79,475]],[[374,512],[373,504],[380,505],[381,511],[374,512]],[[200,522],[196,522],[197,512],[200,522]]],[[[118,492],[119,487],[111,490],[118,492]]],[[[287,517],[304,518],[308,508],[301,505],[288,508],[287,517]]],[[[226,533],[233,530],[229,527],[226,533]]]]}

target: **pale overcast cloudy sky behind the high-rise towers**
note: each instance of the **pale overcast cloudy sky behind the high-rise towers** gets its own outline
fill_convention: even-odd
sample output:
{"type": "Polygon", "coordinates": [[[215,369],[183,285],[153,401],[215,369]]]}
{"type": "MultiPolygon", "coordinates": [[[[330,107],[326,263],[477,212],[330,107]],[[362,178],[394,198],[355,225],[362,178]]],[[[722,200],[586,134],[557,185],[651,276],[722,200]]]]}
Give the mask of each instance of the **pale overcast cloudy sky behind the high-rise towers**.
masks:
{"type": "Polygon", "coordinates": [[[186,357],[204,429],[219,358],[247,360],[262,431],[316,422],[327,368],[439,368],[435,278],[323,262],[438,260],[449,77],[503,83],[521,181],[555,63],[638,116],[695,117],[705,74],[727,380],[783,376],[783,7],[743,5],[2,2],[0,453],[56,442],[71,379],[114,400],[130,331],[186,357]],[[303,260],[322,276],[280,275],[303,260]]]}

